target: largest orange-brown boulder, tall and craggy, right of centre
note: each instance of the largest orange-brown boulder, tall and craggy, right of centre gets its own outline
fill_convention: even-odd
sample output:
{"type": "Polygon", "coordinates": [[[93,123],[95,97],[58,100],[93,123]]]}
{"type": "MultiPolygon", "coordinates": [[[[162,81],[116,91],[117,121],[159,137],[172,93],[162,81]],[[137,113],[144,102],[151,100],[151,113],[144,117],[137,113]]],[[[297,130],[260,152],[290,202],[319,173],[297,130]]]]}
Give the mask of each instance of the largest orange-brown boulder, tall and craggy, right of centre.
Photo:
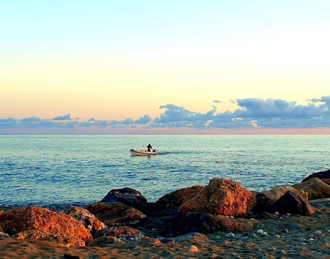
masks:
{"type": "Polygon", "coordinates": [[[238,182],[213,178],[196,196],[184,202],[180,211],[239,217],[256,204],[254,195],[238,182]]]}

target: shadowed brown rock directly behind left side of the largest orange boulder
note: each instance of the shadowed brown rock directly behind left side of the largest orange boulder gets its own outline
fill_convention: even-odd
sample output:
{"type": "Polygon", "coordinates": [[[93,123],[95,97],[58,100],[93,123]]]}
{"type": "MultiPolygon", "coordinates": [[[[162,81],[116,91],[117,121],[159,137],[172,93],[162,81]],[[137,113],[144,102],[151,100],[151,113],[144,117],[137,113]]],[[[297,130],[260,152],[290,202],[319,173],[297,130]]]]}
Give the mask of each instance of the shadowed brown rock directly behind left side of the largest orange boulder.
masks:
{"type": "Polygon", "coordinates": [[[165,194],[163,197],[159,198],[156,204],[162,210],[174,208],[180,206],[185,201],[193,198],[201,190],[203,190],[203,187],[198,185],[182,188],[174,192],[165,194]]]}

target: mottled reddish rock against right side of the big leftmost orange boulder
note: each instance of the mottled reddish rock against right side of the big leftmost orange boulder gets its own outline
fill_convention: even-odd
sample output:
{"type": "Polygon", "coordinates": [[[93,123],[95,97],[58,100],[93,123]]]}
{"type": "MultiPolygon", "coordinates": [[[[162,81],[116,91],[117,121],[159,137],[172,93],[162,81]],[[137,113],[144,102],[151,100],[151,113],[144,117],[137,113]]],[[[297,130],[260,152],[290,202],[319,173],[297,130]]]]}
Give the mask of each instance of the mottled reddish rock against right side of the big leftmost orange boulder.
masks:
{"type": "Polygon", "coordinates": [[[80,207],[71,206],[64,211],[64,214],[69,215],[82,223],[82,225],[90,231],[92,236],[94,236],[97,231],[107,227],[88,210],[80,207]]]}

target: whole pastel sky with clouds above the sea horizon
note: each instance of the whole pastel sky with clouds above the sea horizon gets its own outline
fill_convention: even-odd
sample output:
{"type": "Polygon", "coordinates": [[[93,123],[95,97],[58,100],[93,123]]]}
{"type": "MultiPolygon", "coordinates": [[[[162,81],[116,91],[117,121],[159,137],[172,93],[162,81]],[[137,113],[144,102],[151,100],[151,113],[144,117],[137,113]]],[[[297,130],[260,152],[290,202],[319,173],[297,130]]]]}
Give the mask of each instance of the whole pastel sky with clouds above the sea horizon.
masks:
{"type": "Polygon", "coordinates": [[[329,11],[0,0],[0,134],[329,134],[329,11]]]}

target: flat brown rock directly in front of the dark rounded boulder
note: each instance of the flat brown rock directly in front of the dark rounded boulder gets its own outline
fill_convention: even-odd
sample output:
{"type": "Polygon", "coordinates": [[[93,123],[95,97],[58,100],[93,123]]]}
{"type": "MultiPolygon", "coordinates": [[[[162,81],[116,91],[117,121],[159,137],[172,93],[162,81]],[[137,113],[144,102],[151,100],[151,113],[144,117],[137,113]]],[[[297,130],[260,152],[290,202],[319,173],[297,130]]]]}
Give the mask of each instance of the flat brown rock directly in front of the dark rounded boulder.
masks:
{"type": "Polygon", "coordinates": [[[119,202],[93,203],[86,209],[108,226],[136,225],[146,217],[139,210],[119,202]]]}

